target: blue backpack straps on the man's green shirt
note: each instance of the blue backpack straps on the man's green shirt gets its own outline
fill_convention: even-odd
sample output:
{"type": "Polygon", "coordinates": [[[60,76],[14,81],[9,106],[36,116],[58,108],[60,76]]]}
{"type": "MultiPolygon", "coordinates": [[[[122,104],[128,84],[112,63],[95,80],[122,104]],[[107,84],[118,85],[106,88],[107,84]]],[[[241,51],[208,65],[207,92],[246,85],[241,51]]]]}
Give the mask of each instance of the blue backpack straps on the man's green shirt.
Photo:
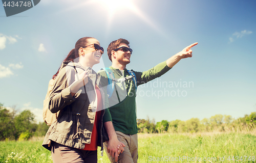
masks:
{"type": "MultiPolygon", "coordinates": [[[[108,79],[109,79],[109,83],[108,86],[106,87],[106,92],[109,96],[109,98],[112,96],[113,92],[114,92],[114,88],[115,88],[115,81],[117,81],[117,79],[115,79],[115,76],[112,72],[112,70],[109,67],[106,68],[101,68],[101,70],[104,70],[106,75],[108,75],[108,79]]],[[[127,72],[130,74],[130,76],[124,77],[125,80],[128,80],[130,78],[133,78],[133,82],[135,84],[135,88],[137,91],[137,79],[136,79],[136,75],[133,71],[127,70],[127,72]]]]}

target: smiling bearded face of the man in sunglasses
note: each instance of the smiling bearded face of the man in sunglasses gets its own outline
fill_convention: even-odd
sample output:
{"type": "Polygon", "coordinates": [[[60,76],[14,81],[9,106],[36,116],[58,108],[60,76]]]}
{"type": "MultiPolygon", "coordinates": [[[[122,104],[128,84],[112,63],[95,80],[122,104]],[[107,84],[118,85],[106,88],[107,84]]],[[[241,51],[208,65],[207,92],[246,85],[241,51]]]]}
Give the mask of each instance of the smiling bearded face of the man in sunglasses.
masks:
{"type": "MultiPolygon", "coordinates": [[[[125,47],[128,47],[129,46],[125,43],[121,43],[118,47],[122,47],[122,46],[125,46],[125,47]]],[[[112,62],[118,62],[119,64],[121,65],[127,65],[130,63],[130,59],[131,59],[131,52],[130,51],[126,51],[124,52],[122,49],[119,49],[119,50],[112,50],[113,54],[113,58],[112,58],[112,62]]]]}

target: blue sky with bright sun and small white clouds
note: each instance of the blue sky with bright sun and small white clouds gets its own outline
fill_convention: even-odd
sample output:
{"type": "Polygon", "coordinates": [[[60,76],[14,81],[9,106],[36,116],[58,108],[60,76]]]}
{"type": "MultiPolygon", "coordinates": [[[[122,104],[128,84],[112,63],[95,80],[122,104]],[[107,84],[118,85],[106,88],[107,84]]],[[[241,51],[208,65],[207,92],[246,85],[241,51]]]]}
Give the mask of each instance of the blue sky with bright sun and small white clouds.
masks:
{"type": "MultiPolygon", "coordinates": [[[[254,0],[109,2],[116,5],[42,0],[10,17],[0,6],[0,102],[29,109],[42,121],[51,76],[75,42],[91,36],[105,51],[113,40],[129,40],[134,52],[127,69],[135,71],[198,42],[192,58],[138,87],[137,118],[238,118],[256,111],[254,0]]],[[[105,52],[94,69],[110,65],[105,52]]]]}

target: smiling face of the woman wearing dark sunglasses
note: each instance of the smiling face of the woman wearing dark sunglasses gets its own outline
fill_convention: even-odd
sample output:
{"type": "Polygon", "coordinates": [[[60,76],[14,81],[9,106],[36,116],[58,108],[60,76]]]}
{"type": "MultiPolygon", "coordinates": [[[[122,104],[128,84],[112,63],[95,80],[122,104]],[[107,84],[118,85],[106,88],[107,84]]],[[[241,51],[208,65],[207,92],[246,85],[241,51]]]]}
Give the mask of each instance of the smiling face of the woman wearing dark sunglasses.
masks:
{"type": "Polygon", "coordinates": [[[93,44],[98,44],[100,46],[100,43],[97,39],[90,38],[88,39],[87,47],[80,47],[79,54],[81,55],[81,64],[83,66],[92,67],[95,64],[98,64],[100,62],[101,58],[101,52],[100,50],[97,50],[94,48],[93,44]],[[88,46],[89,45],[89,46],[88,46]]]}

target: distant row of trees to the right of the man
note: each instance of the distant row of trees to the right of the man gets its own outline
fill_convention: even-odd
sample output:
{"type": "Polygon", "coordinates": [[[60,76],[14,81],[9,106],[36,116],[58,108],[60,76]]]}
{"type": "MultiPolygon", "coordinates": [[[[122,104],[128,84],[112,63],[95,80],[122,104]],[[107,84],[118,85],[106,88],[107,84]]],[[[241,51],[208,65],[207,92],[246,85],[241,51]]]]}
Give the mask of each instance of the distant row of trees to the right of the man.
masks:
{"type": "Polygon", "coordinates": [[[175,120],[155,123],[155,120],[149,118],[137,119],[138,132],[142,133],[164,133],[164,132],[211,132],[211,131],[235,131],[250,130],[255,128],[256,112],[245,115],[242,118],[234,119],[227,115],[215,115],[209,119],[191,118],[187,121],[175,120]]]}

